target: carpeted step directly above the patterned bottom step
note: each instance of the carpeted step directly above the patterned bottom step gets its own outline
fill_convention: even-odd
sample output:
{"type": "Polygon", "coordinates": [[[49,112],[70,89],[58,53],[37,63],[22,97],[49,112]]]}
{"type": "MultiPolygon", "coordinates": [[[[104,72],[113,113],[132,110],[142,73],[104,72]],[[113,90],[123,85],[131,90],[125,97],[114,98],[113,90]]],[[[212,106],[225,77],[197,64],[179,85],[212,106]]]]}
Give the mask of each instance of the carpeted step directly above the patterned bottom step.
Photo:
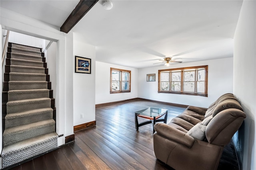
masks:
{"type": "Polygon", "coordinates": [[[54,130],[55,121],[53,119],[6,128],[3,133],[3,144],[5,147],[32,137],[54,132],[54,130]]]}

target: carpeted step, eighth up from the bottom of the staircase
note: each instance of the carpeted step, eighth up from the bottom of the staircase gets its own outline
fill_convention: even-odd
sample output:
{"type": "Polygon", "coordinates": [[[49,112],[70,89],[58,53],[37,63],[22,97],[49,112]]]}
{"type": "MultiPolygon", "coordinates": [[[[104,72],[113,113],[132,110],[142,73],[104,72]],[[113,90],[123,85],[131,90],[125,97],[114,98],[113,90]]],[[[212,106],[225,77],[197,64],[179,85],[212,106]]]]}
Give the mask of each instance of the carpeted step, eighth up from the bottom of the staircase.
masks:
{"type": "Polygon", "coordinates": [[[44,74],[44,67],[10,65],[10,72],[44,74]]]}

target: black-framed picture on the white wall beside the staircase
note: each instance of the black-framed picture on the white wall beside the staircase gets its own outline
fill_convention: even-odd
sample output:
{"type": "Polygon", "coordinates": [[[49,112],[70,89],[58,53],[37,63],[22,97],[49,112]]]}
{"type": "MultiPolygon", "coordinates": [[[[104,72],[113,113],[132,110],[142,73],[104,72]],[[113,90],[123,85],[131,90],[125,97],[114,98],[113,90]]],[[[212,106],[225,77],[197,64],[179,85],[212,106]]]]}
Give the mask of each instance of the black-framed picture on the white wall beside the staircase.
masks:
{"type": "Polygon", "coordinates": [[[75,72],[91,74],[91,59],[75,56],[75,72]]]}

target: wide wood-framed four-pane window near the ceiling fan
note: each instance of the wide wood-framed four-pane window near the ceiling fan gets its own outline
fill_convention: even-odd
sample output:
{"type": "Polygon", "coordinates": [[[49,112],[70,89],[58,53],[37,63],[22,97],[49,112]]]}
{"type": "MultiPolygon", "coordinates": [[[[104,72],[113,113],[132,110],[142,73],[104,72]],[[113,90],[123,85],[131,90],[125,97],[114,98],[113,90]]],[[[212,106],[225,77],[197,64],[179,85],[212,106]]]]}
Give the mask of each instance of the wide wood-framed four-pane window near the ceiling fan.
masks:
{"type": "Polygon", "coordinates": [[[208,66],[158,70],[158,93],[208,96],[208,66]]]}

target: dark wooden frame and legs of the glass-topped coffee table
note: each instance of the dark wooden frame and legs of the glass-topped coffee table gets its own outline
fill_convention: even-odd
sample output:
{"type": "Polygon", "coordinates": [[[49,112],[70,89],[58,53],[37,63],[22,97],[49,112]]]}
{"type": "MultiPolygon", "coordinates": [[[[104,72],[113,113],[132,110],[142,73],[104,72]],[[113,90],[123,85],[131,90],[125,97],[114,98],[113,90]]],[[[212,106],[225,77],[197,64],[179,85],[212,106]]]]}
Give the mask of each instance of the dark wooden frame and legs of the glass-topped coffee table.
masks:
{"type": "Polygon", "coordinates": [[[135,112],[135,128],[136,128],[136,131],[139,130],[139,127],[143,126],[143,125],[147,125],[147,124],[150,124],[152,123],[152,126],[153,126],[153,134],[155,133],[155,129],[154,129],[154,125],[156,124],[156,122],[160,122],[160,121],[163,121],[164,123],[166,123],[167,121],[167,115],[168,115],[168,110],[166,110],[164,113],[158,115],[158,116],[148,116],[148,115],[142,115],[140,113],[136,113],[135,112]],[[159,119],[160,117],[162,117],[163,115],[164,116],[164,119],[159,119]],[[138,123],[138,117],[143,117],[145,119],[150,119],[148,121],[143,121],[141,123],[138,123]]]}

